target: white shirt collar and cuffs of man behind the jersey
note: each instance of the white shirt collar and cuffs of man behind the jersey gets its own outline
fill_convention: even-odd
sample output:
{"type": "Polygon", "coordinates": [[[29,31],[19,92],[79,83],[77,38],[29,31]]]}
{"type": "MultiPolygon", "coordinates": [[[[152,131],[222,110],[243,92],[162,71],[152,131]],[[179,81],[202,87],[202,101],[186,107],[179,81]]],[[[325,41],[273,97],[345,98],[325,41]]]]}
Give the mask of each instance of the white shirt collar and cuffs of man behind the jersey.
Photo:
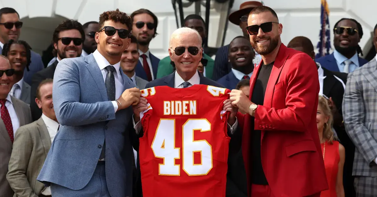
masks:
{"type": "MultiPolygon", "coordinates": [[[[175,75],[175,77],[174,77],[174,88],[183,88],[183,83],[185,82],[185,80],[183,80],[182,77],[179,76],[176,71],[175,71],[174,75],[175,75]]],[[[188,87],[200,84],[199,73],[195,72],[194,76],[192,76],[192,78],[189,79],[188,82],[190,82],[190,85],[188,87]]],[[[135,121],[132,118],[132,122],[133,122],[133,128],[135,128],[136,133],[139,133],[141,128],[142,128],[141,121],[139,121],[138,123],[135,124],[135,121]]],[[[227,125],[228,125],[228,129],[230,129],[230,133],[233,133],[233,131],[236,130],[236,128],[238,126],[238,121],[236,119],[236,122],[233,124],[233,126],[230,126],[229,124],[227,124],[227,125]]]]}

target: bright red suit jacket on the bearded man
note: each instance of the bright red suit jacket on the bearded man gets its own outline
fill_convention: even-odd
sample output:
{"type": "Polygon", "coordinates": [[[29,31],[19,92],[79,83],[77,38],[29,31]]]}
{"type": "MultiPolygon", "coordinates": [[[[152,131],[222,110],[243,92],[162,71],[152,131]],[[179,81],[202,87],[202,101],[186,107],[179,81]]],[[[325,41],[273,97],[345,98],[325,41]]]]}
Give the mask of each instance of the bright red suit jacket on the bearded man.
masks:
{"type": "MultiPolygon", "coordinates": [[[[251,99],[261,64],[250,78],[251,99]]],[[[261,159],[276,197],[303,197],[328,189],[316,123],[319,81],[316,63],[305,53],[280,45],[264,104],[238,113],[250,197],[250,132],[262,130],[261,159]]]]}

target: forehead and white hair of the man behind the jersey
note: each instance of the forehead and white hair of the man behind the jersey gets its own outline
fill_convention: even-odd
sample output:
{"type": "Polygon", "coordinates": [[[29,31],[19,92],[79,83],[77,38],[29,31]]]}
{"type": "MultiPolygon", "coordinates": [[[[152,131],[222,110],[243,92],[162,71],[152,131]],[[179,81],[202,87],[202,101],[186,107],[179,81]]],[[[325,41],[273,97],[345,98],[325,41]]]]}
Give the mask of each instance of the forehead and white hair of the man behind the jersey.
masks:
{"type": "Polygon", "coordinates": [[[192,40],[192,46],[200,48],[202,46],[202,37],[195,29],[189,27],[181,27],[176,29],[173,34],[170,36],[169,48],[175,48],[178,44],[182,43],[184,40],[192,40]]]}

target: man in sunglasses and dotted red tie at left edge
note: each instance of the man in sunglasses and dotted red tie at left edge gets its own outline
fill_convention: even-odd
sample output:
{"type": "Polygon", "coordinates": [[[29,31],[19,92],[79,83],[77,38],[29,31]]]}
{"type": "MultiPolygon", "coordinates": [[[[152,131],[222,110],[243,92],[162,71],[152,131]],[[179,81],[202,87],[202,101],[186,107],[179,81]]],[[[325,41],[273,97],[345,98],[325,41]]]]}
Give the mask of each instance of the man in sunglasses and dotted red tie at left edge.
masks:
{"type": "Polygon", "coordinates": [[[14,135],[18,127],[32,122],[30,107],[9,95],[13,86],[14,69],[8,59],[0,55],[0,196],[9,197],[13,190],[6,180],[14,135]]]}

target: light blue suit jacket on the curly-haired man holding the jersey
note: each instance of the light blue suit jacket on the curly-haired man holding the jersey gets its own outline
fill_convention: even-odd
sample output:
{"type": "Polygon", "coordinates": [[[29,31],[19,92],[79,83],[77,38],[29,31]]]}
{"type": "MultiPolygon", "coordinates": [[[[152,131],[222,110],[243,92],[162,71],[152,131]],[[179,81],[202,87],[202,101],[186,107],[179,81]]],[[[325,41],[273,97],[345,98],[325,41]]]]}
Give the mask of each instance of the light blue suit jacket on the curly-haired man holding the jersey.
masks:
{"type": "MultiPolygon", "coordinates": [[[[120,71],[123,90],[135,87],[120,71]]],[[[84,188],[92,178],[106,139],[105,168],[110,195],[132,196],[131,143],[136,143],[133,145],[138,150],[132,108],[114,112],[93,54],[61,60],[55,70],[52,93],[61,125],[37,180],[73,190],[84,188]]]]}

